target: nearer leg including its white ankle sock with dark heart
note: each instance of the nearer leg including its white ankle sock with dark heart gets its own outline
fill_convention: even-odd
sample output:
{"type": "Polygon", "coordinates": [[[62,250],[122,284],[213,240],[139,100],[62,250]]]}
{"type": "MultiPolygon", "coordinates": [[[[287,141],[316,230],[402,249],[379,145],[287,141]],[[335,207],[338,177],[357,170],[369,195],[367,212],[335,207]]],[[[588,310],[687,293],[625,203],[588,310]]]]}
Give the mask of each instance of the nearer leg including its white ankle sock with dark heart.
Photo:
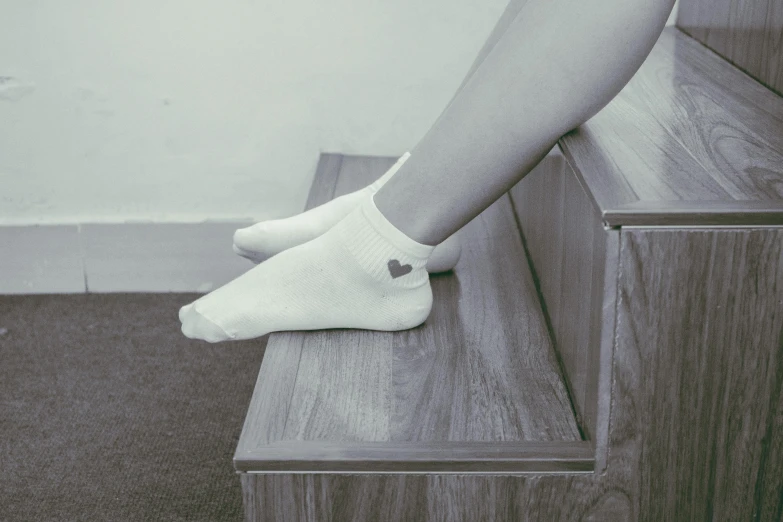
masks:
{"type": "Polygon", "coordinates": [[[329,231],[180,309],[220,342],[273,331],[403,330],[432,308],[434,246],[627,83],[674,0],[529,0],[400,170],[329,231]],[[562,35],[567,34],[565,38],[562,35]]]}

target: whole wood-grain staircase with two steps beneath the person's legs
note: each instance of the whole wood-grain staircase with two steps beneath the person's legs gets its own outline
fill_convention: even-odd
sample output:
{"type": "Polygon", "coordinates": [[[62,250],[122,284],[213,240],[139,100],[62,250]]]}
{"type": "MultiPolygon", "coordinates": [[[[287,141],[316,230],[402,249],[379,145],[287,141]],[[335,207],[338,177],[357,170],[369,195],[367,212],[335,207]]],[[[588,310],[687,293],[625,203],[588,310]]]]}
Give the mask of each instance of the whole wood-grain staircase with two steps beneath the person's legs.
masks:
{"type": "Polygon", "coordinates": [[[422,326],[270,337],[248,520],[783,519],[783,98],[667,28],[460,236],[422,326]]]}

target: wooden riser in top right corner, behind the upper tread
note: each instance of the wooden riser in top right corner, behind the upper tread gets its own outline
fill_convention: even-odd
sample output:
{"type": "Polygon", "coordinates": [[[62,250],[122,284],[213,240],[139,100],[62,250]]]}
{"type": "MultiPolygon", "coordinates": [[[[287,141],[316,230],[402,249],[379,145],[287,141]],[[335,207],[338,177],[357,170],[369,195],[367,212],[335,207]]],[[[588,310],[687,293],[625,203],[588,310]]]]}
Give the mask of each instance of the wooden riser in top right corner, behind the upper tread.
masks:
{"type": "Polygon", "coordinates": [[[680,0],[677,27],[783,95],[783,3],[680,0]]]}

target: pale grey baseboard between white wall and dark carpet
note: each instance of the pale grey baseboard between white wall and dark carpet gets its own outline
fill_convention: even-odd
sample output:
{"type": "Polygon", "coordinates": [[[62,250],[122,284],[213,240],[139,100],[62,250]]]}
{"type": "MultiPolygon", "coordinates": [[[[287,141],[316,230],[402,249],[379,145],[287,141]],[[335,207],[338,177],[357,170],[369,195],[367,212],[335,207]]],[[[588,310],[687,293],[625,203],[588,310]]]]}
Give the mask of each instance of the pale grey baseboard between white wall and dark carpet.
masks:
{"type": "Polygon", "coordinates": [[[206,293],[254,265],[247,221],[0,226],[0,294],[206,293]]]}

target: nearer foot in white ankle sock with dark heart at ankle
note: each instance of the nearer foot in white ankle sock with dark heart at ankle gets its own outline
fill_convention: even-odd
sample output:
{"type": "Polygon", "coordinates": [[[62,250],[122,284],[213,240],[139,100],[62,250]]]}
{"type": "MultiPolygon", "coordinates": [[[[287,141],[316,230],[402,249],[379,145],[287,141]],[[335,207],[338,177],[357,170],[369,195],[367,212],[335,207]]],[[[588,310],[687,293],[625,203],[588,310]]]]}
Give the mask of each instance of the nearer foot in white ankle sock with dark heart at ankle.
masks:
{"type": "Polygon", "coordinates": [[[276,331],[413,328],[432,309],[425,266],[434,248],[400,232],[370,196],[316,239],[183,306],[182,333],[214,343],[276,331]]]}

